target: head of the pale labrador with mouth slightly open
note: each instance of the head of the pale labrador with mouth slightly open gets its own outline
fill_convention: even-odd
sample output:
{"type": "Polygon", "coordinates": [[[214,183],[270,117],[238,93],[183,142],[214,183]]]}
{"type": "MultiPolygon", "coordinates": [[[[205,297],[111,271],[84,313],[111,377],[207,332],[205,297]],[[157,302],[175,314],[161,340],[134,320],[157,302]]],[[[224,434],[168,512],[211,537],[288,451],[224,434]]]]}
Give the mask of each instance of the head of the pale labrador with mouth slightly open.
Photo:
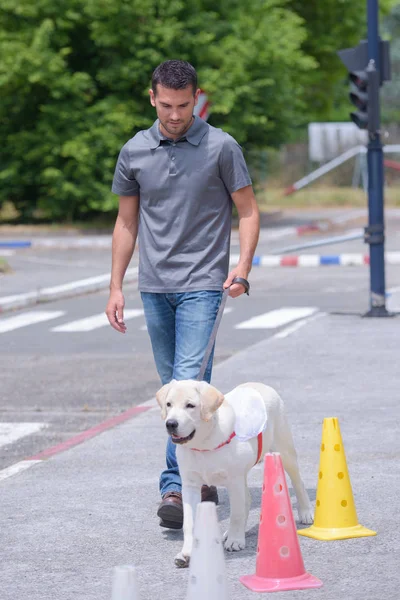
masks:
{"type": "Polygon", "coordinates": [[[224,396],[205,381],[192,379],[164,385],[156,394],[161,417],[175,444],[192,440],[201,425],[209,421],[224,401],[224,396]]]}

